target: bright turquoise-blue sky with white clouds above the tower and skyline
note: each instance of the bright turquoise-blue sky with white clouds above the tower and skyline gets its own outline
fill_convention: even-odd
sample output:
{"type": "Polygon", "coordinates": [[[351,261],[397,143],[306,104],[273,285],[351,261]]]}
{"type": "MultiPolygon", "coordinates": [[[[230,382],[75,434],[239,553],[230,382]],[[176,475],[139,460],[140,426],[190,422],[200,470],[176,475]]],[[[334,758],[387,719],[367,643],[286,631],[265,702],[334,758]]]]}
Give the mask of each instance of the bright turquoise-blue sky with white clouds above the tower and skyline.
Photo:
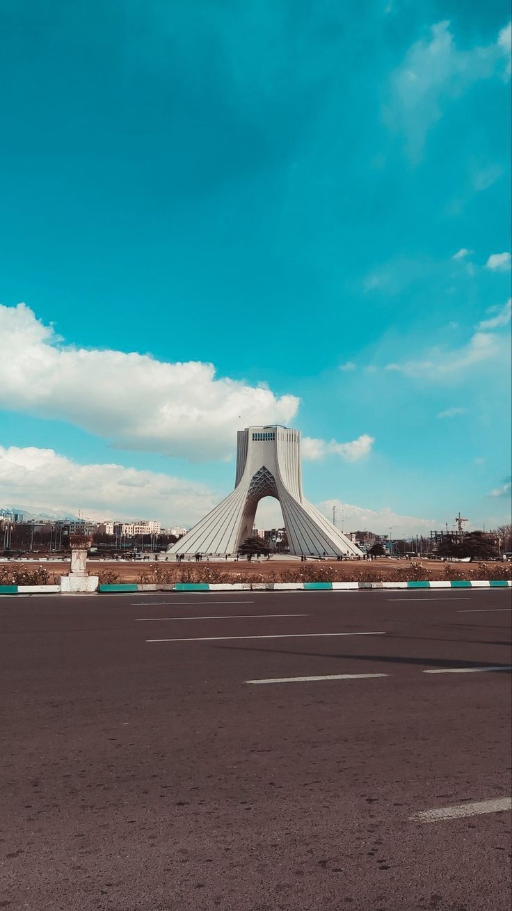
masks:
{"type": "Polygon", "coordinates": [[[190,525],[278,422],[345,527],[507,521],[507,3],[0,18],[2,502],[190,525]]]}

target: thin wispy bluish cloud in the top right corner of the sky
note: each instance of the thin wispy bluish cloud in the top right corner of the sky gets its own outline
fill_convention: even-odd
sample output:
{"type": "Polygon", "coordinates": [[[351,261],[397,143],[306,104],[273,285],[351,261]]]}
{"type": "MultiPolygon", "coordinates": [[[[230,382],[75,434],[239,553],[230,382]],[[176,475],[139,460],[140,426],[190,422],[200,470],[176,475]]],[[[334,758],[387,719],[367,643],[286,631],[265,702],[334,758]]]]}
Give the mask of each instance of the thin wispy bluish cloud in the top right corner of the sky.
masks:
{"type": "Polygon", "coordinates": [[[404,63],[391,78],[391,97],[384,116],[404,133],[412,159],[420,158],[429,128],[443,116],[450,100],[480,79],[509,75],[507,28],[499,32],[493,44],[465,51],[457,48],[450,23],[445,20],[432,26],[427,39],[409,48],[404,63]]]}

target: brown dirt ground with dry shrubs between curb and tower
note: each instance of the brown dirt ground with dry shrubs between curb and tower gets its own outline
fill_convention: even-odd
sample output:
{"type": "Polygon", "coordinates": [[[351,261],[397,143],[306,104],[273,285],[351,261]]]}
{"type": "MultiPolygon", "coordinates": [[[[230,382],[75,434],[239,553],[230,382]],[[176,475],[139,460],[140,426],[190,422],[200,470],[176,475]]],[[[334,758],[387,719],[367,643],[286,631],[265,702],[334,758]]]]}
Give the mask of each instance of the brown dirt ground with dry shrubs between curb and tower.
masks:
{"type": "MultiPolygon", "coordinates": [[[[58,577],[63,573],[69,572],[69,561],[63,560],[59,562],[54,562],[53,560],[15,560],[13,561],[15,567],[26,567],[27,569],[35,569],[36,567],[44,567],[50,575],[50,582],[53,582],[52,577],[55,576],[55,581],[58,582],[58,577]]],[[[308,560],[306,563],[307,567],[315,568],[325,568],[326,575],[325,578],[329,578],[328,570],[329,568],[333,569],[333,578],[346,578],[347,580],[358,578],[358,576],[364,571],[379,572],[382,573],[383,578],[394,578],[394,573],[397,569],[411,567],[411,560],[404,559],[389,559],[389,558],[376,558],[371,561],[366,560],[343,560],[342,563],[337,562],[336,560],[308,560]]],[[[456,568],[457,574],[460,573],[459,578],[472,578],[475,575],[476,569],[479,566],[478,561],[476,563],[455,563],[455,564],[446,564],[440,560],[430,560],[426,558],[418,558],[417,561],[421,563],[425,569],[428,569],[428,578],[433,580],[435,579],[444,579],[446,578],[446,568],[452,566],[456,568]]],[[[0,567],[5,567],[6,563],[1,563],[0,567]]],[[[87,560],[87,570],[90,575],[99,575],[101,576],[102,572],[106,570],[110,572],[115,572],[118,574],[119,582],[138,582],[140,581],[141,574],[149,577],[154,572],[155,569],[166,569],[171,568],[218,568],[222,572],[229,572],[233,575],[233,581],[240,580],[240,577],[244,576],[254,576],[258,574],[261,577],[271,577],[279,578],[283,572],[289,570],[298,570],[304,566],[300,560],[297,559],[276,559],[272,558],[267,560],[266,558],[261,558],[260,560],[252,559],[249,562],[247,559],[240,559],[238,561],[234,560],[201,560],[200,563],[196,563],[195,560],[189,562],[183,561],[179,564],[175,562],[167,561],[149,561],[149,560],[87,560]]],[[[496,562],[487,563],[486,566],[489,568],[489,578],[497,578],[497,568],[503,568],[503,574],[501,578],[509,578],[510,574],[510,565],[509,564],[499,564],[496,562]]],[[[145,579],[145,581],[148,579],[145,579]]]]}

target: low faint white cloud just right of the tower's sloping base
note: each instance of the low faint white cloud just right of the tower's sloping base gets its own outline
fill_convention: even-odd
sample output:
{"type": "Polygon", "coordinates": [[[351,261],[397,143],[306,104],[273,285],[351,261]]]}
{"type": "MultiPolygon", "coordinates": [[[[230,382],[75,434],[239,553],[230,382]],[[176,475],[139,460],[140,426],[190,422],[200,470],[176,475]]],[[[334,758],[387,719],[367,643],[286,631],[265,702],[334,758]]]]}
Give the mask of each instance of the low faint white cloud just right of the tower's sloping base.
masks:
{"type": "Polygon", "coordinates": [[[389,507],[384,509],[366,509],[356,507],[342,500],[323,500],[318,508],[330,521],[333,520],[333,507],[336,507],[336,525],[346,531],[374,531],[377,535],[388,535],[390,527],[393,537],[402,535],[425,535],[431,528],[438,527],[434,518],[418,518],[415,516],[401,516],[389,507]]]}

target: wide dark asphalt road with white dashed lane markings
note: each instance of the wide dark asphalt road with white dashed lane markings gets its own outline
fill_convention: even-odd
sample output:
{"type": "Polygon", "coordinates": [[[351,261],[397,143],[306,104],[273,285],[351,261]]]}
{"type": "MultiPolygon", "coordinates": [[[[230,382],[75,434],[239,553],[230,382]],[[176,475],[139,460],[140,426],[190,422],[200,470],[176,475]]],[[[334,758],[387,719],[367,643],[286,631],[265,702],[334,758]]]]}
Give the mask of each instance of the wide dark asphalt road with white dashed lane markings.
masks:
{"type": "Polygon", "coordinates": [[[510,621],[498,589],[1,598],[0,908],[508,911],[510,621]]]}

